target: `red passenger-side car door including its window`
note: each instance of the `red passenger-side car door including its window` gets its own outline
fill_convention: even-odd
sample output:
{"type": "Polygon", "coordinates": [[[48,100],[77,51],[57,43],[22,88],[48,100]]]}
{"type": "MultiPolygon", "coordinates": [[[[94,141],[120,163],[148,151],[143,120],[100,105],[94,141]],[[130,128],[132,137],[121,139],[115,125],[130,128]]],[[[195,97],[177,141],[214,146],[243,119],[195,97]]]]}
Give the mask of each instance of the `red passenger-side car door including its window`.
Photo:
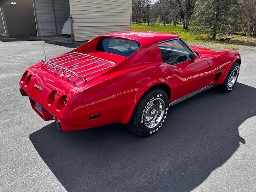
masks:
{"type": "Polygon", "coordinates": [[[163,63],[167,68],[167,80],[172,88],[171,100],[186,96],[208,86],[212,73],[208,62],[197,56],[181,39],[158,44],[163,63]],[[190,59],[190,54],[194,59],[190,59]]]}

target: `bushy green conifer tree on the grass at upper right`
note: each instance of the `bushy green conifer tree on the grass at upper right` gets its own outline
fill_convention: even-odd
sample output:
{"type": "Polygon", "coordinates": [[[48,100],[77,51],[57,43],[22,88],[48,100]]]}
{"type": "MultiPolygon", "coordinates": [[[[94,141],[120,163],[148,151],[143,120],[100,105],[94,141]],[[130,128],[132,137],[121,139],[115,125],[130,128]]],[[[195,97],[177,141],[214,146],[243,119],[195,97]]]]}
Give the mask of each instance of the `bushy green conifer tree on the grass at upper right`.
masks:
{"type": "Polygon", "coordinates": [[[198,0],[191,32],[208,33],[215,40],[218,33],[236,31],[238,7],[238,0],[198,0]]]}

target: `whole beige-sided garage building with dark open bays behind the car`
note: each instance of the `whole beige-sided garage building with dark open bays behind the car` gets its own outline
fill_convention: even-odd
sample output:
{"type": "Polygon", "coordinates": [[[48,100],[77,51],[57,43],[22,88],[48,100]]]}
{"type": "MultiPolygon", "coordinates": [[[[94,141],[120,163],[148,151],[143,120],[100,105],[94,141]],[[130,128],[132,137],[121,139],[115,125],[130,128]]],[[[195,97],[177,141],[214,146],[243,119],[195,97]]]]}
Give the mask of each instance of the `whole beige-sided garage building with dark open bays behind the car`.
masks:
{"type": "Polygon", "coordinates": [[[46,37],[64,33],[71,36],[71,41],[85,41],[110,32],[131,30],[132,0],[16,0],[11,3],[0,0],[1,35],[46,37]]]}

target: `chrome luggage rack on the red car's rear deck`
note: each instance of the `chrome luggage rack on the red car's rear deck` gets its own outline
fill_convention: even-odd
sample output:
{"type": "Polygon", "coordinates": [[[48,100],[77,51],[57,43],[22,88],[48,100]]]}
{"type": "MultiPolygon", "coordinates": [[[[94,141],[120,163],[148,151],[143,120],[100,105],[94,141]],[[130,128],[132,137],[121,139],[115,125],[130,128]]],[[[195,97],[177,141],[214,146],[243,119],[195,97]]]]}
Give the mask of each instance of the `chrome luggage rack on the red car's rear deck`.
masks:
{"type": "Polygon", "coordinates": [[[115,65],[114,62],[78,52],[41,60],[41,62],[43,62],[46,70],[59,74],[60,77],[75,78],[74,83],[81,78],[87,81],[87,76],[115,65]]]}

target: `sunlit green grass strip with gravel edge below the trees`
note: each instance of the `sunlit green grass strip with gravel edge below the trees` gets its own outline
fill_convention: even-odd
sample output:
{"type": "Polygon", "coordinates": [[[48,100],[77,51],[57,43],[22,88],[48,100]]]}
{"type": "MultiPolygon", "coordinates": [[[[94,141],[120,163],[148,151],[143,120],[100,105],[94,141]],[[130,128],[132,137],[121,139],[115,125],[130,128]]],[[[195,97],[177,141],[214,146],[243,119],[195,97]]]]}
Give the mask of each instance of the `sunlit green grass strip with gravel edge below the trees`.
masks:
{"type": "Polygon", "coordinates": [[[182,26],[156,26],[132,24],[132,30],[159,31],[174,33],[189,42],[190,45],[198,45],[206,48],[222,49],[256,49],[256,38],[242,36],[242,34],[218,35],[217,40],[210,40],[207,34],[191,35],[190,30],[184,30],[182,26]],[[220,38],[230,38],[230,40],[218,40],[220,38]]]}

